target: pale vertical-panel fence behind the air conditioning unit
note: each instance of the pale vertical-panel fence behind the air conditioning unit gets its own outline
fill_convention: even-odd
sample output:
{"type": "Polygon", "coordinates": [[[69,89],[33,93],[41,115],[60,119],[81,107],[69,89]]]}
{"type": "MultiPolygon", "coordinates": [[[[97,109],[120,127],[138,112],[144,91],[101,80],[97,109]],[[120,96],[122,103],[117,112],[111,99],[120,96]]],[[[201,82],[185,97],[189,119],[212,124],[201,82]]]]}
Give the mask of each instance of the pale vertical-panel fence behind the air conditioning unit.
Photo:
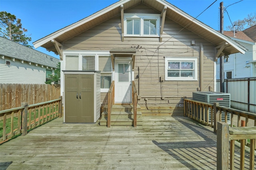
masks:
{"type": "MultiPolygon", "coordinates": [[[[220,80],[216,91],[220,92],[220,80]]],[[[256,113],[256,77],[225,79],[224,92],[230,93],[231,107],[256,113]]]]}

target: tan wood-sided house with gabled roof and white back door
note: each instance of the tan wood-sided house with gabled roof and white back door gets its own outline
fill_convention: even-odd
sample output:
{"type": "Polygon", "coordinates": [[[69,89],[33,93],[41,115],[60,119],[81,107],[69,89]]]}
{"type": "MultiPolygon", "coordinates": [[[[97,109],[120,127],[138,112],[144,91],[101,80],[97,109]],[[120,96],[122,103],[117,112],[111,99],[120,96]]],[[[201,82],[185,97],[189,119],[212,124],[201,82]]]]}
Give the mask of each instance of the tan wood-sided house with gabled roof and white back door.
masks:
{"type": "Polygon", "coordinates": [[[64,108],[68,100],[68,108],[85,111],[80,106],[85,95],[78,85],[95,81],[98,75],[90,81],[75,75],[100,71],[102,105],[108,104],[111,83],[114,103],[131,103],[134,81],[144,115],[183,115],[184,96],[214,91],[216,59],[246,50],[165,0],[120,0],[34,46],[60,55],[64,108]],[[70,99],[65,93],[72,93],[70,99]]]}

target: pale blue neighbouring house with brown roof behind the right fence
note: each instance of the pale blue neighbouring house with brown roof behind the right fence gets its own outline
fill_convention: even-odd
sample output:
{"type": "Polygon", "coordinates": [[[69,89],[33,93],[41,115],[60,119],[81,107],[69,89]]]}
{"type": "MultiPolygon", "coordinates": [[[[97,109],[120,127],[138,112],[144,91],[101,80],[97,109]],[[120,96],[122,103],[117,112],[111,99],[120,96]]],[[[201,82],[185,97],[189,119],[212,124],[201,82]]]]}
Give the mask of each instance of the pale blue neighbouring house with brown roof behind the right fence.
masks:
{"type": "MultiPolygon", "coordinates": [[[[223,34],[248,49],[245,54],[234,53],[224,59],[224,78],[256,77],[256,25],[244,31],[224,31],[223,34]]],[[[219,59],[216,65],[216,79],[220,79],[219,59]]]]}

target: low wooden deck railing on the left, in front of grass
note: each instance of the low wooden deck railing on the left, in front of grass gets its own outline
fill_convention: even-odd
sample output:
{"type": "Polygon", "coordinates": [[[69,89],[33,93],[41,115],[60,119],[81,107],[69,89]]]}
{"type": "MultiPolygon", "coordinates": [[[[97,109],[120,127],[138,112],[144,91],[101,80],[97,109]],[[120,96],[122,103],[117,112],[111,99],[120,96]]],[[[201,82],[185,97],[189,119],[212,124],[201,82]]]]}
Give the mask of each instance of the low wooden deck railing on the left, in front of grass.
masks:
{"type": "Polygon", "coordinates": [[[0,111],[0,143],[13,136],[26,135],[28,130],[62,116],[62,96],[59,99],[0,111]],[[9,117],[9,118],[8,118],[9,117]]]}

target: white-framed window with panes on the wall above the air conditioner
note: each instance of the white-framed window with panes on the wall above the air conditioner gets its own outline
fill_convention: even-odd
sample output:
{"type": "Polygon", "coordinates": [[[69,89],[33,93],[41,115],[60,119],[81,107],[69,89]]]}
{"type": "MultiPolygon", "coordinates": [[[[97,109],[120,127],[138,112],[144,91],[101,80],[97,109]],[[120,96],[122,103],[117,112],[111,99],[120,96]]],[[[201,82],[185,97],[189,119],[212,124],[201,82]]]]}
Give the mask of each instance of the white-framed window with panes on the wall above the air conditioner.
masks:
{"type": "Polygon", "coordinates": [[[197,81],[197,57],[165,57],[166,81],[197,81]]]}

